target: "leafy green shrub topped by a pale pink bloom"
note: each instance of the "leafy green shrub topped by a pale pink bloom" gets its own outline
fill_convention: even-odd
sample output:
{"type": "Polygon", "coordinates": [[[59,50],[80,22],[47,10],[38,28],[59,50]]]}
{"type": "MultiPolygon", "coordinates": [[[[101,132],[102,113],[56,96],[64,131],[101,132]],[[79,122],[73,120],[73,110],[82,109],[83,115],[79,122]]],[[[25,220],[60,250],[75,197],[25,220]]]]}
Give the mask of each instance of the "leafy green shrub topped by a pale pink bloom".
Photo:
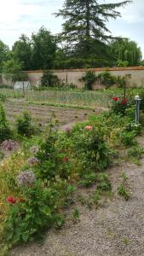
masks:
{"type": "Polygon", "coordinates": [[[100,124],[96,127],[90,125],[76,127],[75,132],[72,133],[72,140],[75,155],[79,161],[82,160],[82,173],[105,169],[110,162],[110,150],[100,124]]]}

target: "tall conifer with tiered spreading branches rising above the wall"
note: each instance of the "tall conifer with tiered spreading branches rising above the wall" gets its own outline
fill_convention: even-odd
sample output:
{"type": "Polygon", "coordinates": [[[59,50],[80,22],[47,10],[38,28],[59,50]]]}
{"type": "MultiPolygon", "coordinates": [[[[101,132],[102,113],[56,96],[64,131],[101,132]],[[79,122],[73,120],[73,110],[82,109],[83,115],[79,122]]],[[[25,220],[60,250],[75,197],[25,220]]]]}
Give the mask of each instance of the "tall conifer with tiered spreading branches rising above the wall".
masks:
{"type": "Polygon", "coordinates": [[[69,55],[103,56],[107,42],[112,39],[107,21],[120,17],[117,8],[130,2],[100,4],[96,0],[65,0],[63,9],[55,15],[66,20],[60,39],[65,42],[69,55]]]}

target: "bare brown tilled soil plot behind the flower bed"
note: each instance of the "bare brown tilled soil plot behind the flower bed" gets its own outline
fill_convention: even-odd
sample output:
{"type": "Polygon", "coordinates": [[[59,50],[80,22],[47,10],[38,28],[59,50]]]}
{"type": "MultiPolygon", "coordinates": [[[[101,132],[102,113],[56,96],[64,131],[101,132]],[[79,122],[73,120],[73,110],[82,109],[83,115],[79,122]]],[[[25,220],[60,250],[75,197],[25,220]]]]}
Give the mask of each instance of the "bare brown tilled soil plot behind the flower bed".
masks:
{"type": "Polygon", "coordinates": [[[14,122],[16,116],[24,110],[28,110],[32,114],[32,119],[37,124],[45,124],[49,122],[52,113],[55,113],[59,119],[60,126],[81,122],[88,119],[88,115],[92,113],[100,113],[101,109],[76,109],[76,108],[57,108],[49,106],[28,105],[25,99],[11,99],[4,104],[6,115],[10,122],[14,122]]]}

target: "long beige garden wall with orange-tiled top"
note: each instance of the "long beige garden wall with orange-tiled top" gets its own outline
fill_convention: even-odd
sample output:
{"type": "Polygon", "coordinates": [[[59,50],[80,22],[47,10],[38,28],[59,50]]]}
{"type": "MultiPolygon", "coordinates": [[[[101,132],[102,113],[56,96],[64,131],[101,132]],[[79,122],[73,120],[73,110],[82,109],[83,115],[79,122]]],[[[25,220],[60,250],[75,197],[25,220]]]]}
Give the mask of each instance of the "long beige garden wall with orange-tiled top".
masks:
{"type": "MultiPolygon", "coordinates": [[[[80,82],[79,79],[82,78],[85,72],[94,71],[97,75],[98,73],[104,72],[106,68],[89,68],[89,69],[67,69],[67,70],[52,70],[58,78],[68,84],[75,84],[79,88],[84,86],[84,82],[80,82]]],[[[129,86],[144,86],[144,67],[112,67],[108,69],[112,75],[115,76],[128,76],[129,86]]],[[[42,71],[28,71],[28,79],[31,81],[32,85],[38,85],[40,79],[43,75],[42,71]]],[[[95,82],[94,89],[104,88],[101,84],[95,82]]]]}

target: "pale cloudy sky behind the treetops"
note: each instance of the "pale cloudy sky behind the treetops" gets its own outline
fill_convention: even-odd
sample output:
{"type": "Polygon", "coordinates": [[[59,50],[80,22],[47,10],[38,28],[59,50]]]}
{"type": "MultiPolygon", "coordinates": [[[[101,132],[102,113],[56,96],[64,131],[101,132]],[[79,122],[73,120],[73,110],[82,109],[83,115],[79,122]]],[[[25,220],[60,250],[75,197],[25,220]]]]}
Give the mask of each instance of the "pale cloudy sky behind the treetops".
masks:
{"type": "MultiPolygon", "coordinates": [[[[118,0],[101,0],[101,3],[118,3],[118,0]]],[[[31,36],[41,26],[52,33],[60,32],[62,20],[55,13],[64,0],[0,0],[0,39],[11,47],[21,33],[31,36]]],[[[114,36],[135,40],[144,57],[144,1],[134,0],[124,9],[119,9],[122,18],[107,24],[114,36]]]]}

